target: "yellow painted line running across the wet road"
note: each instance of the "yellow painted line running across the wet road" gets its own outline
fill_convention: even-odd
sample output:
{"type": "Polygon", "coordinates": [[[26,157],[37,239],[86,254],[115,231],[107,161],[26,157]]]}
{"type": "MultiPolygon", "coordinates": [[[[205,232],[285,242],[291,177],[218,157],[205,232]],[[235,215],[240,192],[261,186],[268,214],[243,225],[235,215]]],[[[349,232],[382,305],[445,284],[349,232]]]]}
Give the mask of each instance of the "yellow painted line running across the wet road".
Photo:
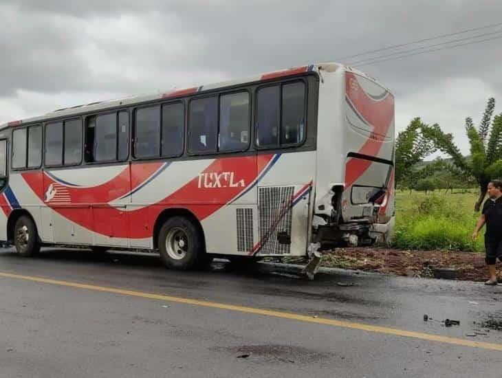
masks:
{"type": "Polygon", "coordinates": [[[430,335],[428,333],[406,331],[403,329],[393,329],[393,328],[388,328],[388,327],[384,327],[384,326],[372,326],[369,324],[362,324],[362,323],[355,323],[355,322],[345,322],[343,320],[334,320],[334,319],[327,319],[327,318],[314,318],[312,316],[300,315],[300,314],[296,314],[296,313],[286,313],[286,312],[282,312],[282,311],[258,309],[255,307],[236,306],[234,304],[224,304],[224,303],[218,303],[218,302],[208,302],[206,300],[196,300],[196,299],[180,298],[180,297],[173,297],[173,296],[163,296],[162,294],[143,293],[141,291],[116,289],[114,287],[103,287],[103,286],[97,286],[97,285],[87,285],[87,284],[81,284],[78,282],[52,280],[50,278],[22,276],[20,274],[11,274],[11,273],[0,272],[0,277],[17,278],[19,280],[43,282],[43,283],[47,283],[47,284],[64,286],[64,287],[75,287],[78,289],[87,289],[87,290],[93,290],[93,291],[102,291],[105,293],[122,294],[124,296],[133,296],[133,297],[140,297],[140,298],[162,300],[162,301],[167,301],[167,302],[193,304],[194,306],[210,307],[213,309],[223,309],[223,310],[229,310],[229,311],[238,311],[241,313],[254,313],[257,315],[272,316],[274,318],[283,318],[283,319],[290,319],[290,320],[298,320],[300,322],[325,324],[325,325],[329,325],[329,326],[338,326],[338,327],[348,328],[348,329],[358,329],[360,331],[384,333],[386,335],[412,337],[414,339],[428,340],[428,341],[432,341],[432,342],[441,342],[441,343],[445,343],[445,344],[453,344],[453,345],[460,345],[460,346],[470,346],[472,348],[483,348],[483,349],[489,349],[491,351],[502,351],[502,344],[494,344],[494,343],[490,343],[490,342],[475,342],[472,340],[464,340],[464,339],[459,339],[456,337],[430,335]]]}

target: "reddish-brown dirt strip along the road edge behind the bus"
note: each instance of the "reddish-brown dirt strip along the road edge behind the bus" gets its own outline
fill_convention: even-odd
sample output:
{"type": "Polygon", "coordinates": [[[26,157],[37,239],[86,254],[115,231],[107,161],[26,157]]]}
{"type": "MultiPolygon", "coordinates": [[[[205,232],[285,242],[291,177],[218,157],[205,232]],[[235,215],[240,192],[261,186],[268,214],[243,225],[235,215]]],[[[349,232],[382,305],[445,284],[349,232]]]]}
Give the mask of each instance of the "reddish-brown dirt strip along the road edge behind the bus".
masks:
{"type": "MultiPolygon", "coordinates": [[[[415,277],[433,277],[435,268],[456,268],[459,270],[459,280],[488,279],[485,256],[475,252],[410,251],[383,247],[340,248],[323,252],[321,264],[323,267],[415,277]]],[[[501,264],[497,268],[500,281],[501,264]]]]}

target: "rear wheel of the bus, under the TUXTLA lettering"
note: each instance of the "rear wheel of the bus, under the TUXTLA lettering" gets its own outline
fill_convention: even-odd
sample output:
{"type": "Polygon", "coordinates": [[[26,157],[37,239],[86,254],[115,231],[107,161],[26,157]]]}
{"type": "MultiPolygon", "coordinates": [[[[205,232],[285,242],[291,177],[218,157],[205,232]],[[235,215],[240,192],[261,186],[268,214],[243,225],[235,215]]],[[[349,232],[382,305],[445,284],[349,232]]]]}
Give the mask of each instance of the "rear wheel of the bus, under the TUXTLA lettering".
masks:
{"type": "Polygon", "coordinates": [[[159,252],[170,269],[192,269],[204,260],[204,241],[199,228],[184,216],[169,218],[159,232],[159,252]]]}

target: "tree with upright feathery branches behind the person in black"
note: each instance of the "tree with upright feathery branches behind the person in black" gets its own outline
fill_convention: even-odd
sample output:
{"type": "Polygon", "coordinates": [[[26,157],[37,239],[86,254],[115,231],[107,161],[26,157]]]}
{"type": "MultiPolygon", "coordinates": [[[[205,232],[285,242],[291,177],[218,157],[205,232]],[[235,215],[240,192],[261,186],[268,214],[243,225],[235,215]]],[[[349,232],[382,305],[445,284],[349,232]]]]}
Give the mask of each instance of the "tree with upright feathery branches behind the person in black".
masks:
{"type": "Polygon", "coordinates": [[[437,149],[450,155],[452,163],[463,175],[472,175],[476,179],[479,198],[474,204],[475,212],[479,212],[490,180],[502,175],[502,113],[496,115],[492,121],[494,109],[495,100],[490,98],[478,129],[472,118],[466,118],[470,159],[460,153],[452,135],[441,131],[438,124],[422,126],[422,135],[426,139],[434,142],[437,149]]]}

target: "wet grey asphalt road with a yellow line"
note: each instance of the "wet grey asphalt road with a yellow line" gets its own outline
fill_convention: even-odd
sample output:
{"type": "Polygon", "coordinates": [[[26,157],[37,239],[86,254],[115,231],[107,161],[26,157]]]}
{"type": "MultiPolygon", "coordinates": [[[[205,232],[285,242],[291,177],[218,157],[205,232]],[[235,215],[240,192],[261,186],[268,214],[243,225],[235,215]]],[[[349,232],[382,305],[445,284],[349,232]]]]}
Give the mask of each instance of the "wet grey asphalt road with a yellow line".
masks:
{"type": "Polygon", "coordinates": [[[1,251],[0,377],[502,376],[502,286],[1,251]]]}

